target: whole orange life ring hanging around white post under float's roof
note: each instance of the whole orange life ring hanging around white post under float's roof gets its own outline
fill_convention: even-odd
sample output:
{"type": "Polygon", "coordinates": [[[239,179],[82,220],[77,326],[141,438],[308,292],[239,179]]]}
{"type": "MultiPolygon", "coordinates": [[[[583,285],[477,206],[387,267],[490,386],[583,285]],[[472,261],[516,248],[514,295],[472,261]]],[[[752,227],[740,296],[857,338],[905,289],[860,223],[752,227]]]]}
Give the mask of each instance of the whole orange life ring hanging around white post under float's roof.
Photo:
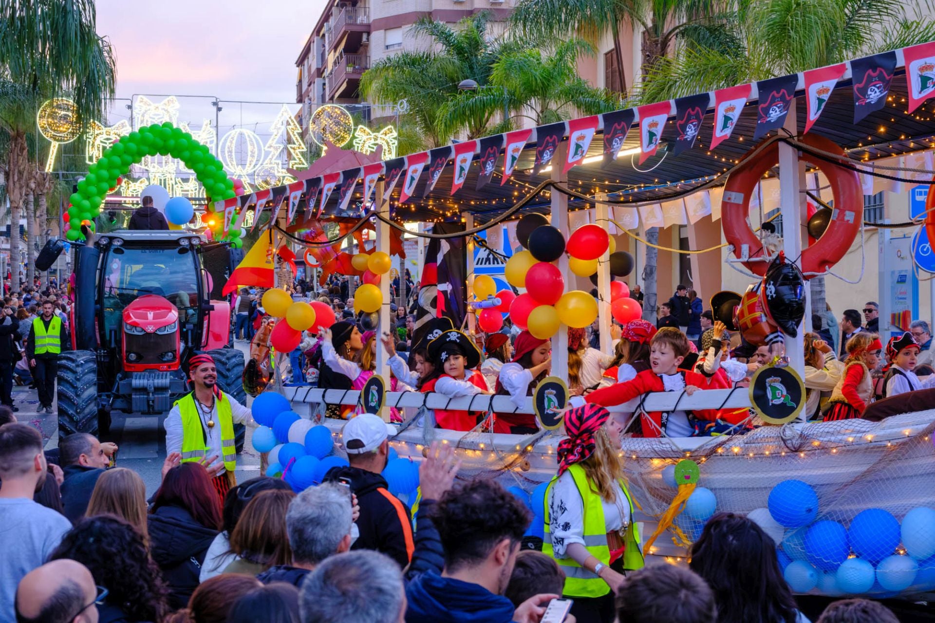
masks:
{"type": "MultiPolygon", "coordinates": [[[[847,154],[833,142],[818,135],[804,135],[798,139],[802,143],[828,153],[847,154]]],[[[733,245],[734,255],[743,256],[744,247],[748,259],[764,256],[763,244],[750,228],[750,195],[757,182],[779,162],[779,143],[772,143],[768,148],[757,153],[753,158],[743,161],[731,172],[724,187],[721,202],[721,220],[724,237],[733,245]]],[[[819,168],[827,177],[834,196],[834,211],[825,234],[815,244],[802,251],[801,269],[803,273],[823,273],[828,267],[841,261],[848,248],[856,239],[864,215],[864,192],[856,172],[841,165],[820,161],[819,168]]],[[[929,213],[931,215],[932,213],[929,213]]],[[[935,229],[935,224],[932,225],[935,229]]],[[[791,259],[791,258],[790,258],[791,259]]],[[[763,276],[769,262],[743,262],[748,270],[763,276]]],[[[808,276],[805,277],[809,278],[808,276]]]]}

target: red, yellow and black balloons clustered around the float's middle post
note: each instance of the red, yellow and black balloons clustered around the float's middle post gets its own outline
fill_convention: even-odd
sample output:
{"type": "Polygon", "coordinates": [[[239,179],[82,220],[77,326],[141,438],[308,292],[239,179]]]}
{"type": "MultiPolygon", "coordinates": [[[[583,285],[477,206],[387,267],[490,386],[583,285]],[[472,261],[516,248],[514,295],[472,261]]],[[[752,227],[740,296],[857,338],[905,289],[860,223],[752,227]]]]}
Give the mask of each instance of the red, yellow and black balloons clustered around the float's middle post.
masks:
{"type": "MultiPolygon", "coordinates": [[[[515,253],[507,261],[504,273],[507,281],[516,288],[525,288],[525,293],[515,297],[510,306],[513,324],[527,329],[539,339],[552,337],[561,324],[581,329],[597,319],[597,300],[583,290],[565,291],[565,279],[553,262],[563,253],[568,253],[568,267],[575,275],[597,276],[597,259],[608,250],[611,251],[611,275],[626,276],[632,270],[632,258],[624,251],[613,248],[613,239],[607,231],[597,225],[584,225],[568,238],[548,224],[548,220],[539,214],[527,214],[516,225],[516,238],[525,250],[515,253]],[[616,267],[616,268],[615,268],[616,267]]],[[[488,277],[489,278],[489,277],[488,277]]],[[[474,290],[478,290],[475,279],[474,290]]],[[[491,280],[492,282],[493,280],[491,280]]],[[[611,301],[614,294],[619,297],[629,294],[626,284],[611,289],[611,301]],[[621,292],[626,292],[621,294],[621,292]]],[[[490,288],[493,290],[493,288],[490,288]]],[[[499,296],[500,293],[497,293],[499,296]]],[[[629,299],[627,299],[629,300],[629,299]]],[[[632,302],[636,304],[636,301],[632,302]]],[[[621,314],[630,304],[618,304],[621,314]]],[[[637,308],[639,309],[639,304],[637,308]]],[[[482,316],[488,310],[482,312],[482,316]]],[[[493,311],[493,310],[490,310],[493,311]]],[[[500,310],[502,311],[502,309],[500,310]]],[[[639,318],[640,313],[636,318],[639,318]]],[[[617,314],[614,314],[616,318],[617,314]]],[[[493,317],[490,325],[495,322],[493,317]]],[[[502,324],[502,320],[501,320],[502,324]]],[[[482,326],[483,329],[483,326],[482,326]]]]}

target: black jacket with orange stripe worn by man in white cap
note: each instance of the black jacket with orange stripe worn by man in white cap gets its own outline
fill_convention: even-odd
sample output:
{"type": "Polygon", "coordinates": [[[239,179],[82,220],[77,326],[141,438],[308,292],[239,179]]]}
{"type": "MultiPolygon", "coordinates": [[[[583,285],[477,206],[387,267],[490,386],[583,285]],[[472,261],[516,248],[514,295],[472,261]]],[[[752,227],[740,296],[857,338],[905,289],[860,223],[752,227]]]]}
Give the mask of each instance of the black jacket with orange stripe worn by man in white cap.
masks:
{"type": "Polygon", "coordinates": [[[334,467],[324,476],[325,482],[338,478],[351,480],[351,490],[360,504],[357,528],[360,537],[351,549],[375,549],[406,567],[412,559],[412,520],[409,507],[387,490],[380,474],[356,467],[334,467]]]}

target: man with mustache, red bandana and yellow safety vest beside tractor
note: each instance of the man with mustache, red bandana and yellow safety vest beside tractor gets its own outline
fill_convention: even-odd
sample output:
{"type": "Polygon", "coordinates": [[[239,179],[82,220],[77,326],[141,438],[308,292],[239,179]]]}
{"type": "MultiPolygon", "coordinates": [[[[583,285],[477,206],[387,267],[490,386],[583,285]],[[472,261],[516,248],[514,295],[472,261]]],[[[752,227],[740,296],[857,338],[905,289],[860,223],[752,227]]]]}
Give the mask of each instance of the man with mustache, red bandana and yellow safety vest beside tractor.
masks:
{"type": "Polygon", "coordinates": [[[218,372],[210,355],[195,355],[189,361],[188,375],[194,390],[165,417],[166,460],[175,454],[176,462],[204,462],[223,503],[228,489],[237,484],[234,424],[254,427],[256,422],[249,408],[218,388],[218,372]]]}

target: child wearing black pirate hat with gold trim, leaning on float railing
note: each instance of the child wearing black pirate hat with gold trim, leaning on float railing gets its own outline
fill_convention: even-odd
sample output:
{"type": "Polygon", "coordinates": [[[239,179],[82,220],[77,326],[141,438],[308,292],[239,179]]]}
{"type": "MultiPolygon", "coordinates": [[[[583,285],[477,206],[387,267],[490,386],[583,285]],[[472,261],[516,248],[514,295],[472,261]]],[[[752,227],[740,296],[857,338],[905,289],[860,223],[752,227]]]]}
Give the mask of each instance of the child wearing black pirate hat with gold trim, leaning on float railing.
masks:
{"type": "MultiPolygon", "coordinates": [[[[474,369],[481,363],[481,351],[464,333],[446,331],[428,343],[427,351],[435,369],[422,384],[424,392],[435,391],[450,398],[492,393],[483,375],[474,369]]],[[[435,410],[436,425],[442,429],[470,431],[477,420],[473,412],[435,410]]]]}

